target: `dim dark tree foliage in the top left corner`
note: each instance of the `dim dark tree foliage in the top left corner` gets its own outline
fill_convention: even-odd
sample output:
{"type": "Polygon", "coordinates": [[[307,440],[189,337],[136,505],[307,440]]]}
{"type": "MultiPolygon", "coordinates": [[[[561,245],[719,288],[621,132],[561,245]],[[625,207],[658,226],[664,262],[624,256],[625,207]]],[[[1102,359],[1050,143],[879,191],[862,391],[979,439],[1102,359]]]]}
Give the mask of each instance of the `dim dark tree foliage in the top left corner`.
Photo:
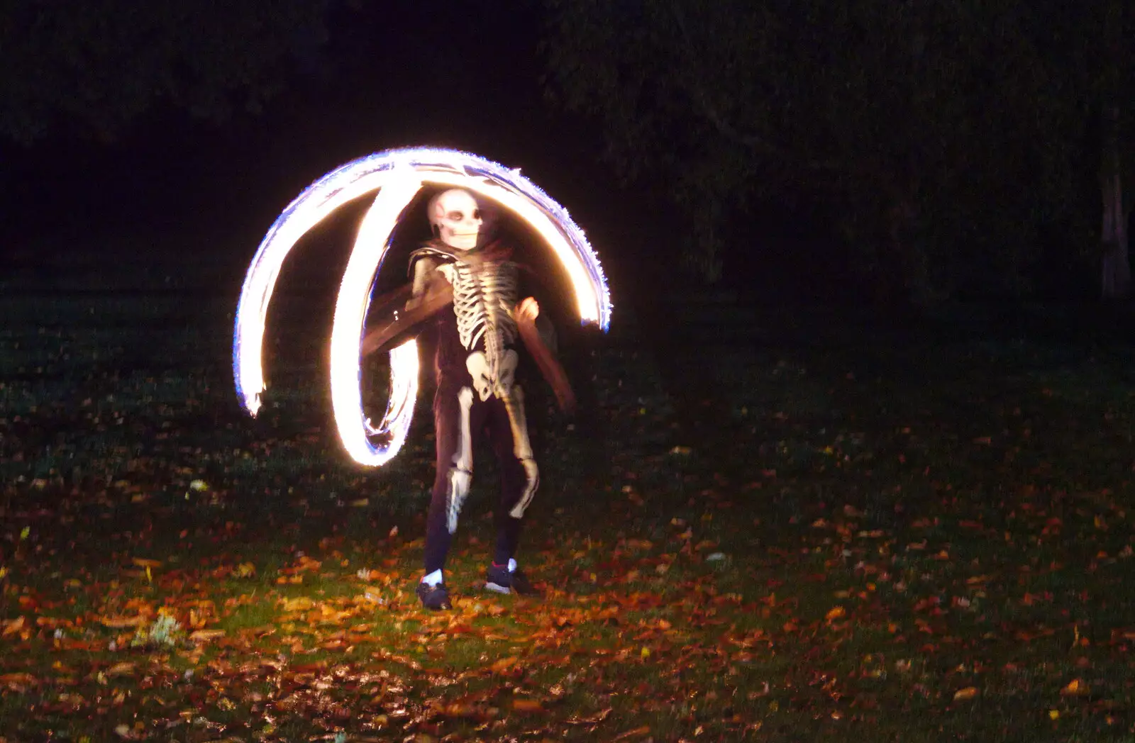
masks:
{"type": "Polygon", "coordinates": [[[0,135],[111,137],[166,102],[258,110],[326,36],[328,0],[19,0],[0,6],[0,135]]]}

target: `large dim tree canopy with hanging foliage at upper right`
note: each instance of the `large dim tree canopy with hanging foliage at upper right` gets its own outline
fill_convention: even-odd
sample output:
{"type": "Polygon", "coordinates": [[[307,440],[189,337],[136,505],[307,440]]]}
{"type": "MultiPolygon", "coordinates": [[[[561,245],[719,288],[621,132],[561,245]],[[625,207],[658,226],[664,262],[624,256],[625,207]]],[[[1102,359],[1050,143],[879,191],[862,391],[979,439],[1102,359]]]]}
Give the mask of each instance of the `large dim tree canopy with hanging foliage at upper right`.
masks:
{"type": "Polygon", "coordinates": [[[835,204],[907,295],[1011,288],[1042,233],[1098,213],[1107,0],[546,3],[552,93],[625,175],[675,184],[711,279],[724,216],[772,192],[835,204]]]}

